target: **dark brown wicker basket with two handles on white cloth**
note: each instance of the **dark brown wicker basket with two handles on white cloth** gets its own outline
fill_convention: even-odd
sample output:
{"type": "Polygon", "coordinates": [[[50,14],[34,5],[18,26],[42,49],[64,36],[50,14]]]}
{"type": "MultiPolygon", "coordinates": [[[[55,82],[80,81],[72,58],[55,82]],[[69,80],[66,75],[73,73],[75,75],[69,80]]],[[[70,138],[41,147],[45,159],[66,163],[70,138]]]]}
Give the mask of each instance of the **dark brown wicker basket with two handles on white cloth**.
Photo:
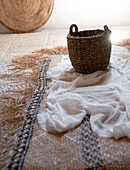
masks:
{"type": "Polygon", "coordinates": [[[89,74],[106,70],[111,55],[110,34],[111,31],[106,25],[104,30],[79,32],[77,25],[70,26],[67,35],[68,51],[76,72],[89,74]]]}

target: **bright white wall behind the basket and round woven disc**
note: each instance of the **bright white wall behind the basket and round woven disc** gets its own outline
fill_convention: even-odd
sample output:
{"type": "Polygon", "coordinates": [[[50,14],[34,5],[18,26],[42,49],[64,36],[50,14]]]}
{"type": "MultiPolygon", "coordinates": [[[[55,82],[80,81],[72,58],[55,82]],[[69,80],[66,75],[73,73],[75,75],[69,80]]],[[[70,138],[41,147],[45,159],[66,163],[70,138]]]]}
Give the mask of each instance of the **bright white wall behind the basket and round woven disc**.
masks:
{"type": "MultiPolygon", "coordinates": [[[[55,0],[54,10],[45,28],[130,25],[130,0],[55,0]]],[[[0,32],[9,32],[0,25],[0,32]]]]}

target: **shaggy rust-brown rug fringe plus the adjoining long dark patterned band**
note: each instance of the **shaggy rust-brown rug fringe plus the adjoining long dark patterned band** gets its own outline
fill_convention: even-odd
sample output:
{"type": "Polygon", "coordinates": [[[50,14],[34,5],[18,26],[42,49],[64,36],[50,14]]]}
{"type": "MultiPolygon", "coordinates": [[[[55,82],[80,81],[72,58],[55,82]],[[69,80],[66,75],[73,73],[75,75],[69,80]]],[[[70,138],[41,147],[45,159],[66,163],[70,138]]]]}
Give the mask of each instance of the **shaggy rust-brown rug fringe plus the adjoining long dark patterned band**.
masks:
{"type": "Polygon", "coordinates": [[[57,54],[59,59],[66,52],[66,47],[44,48],[15,57],[0,73],[0,169],[22,167],[47,87],[48,54],[57,54]]]}

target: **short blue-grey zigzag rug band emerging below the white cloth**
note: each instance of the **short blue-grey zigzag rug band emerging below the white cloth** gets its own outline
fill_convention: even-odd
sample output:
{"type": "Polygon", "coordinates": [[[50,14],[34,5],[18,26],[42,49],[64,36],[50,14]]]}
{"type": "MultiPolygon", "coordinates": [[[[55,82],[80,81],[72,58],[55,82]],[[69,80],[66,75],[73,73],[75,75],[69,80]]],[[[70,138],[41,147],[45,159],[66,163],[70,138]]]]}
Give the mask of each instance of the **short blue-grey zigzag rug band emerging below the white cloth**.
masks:
{"type": "Polygon", "coordinates": [[[82,123],[82,152],[86,168],[102,168],[98,137],[90,129],[89,117],[86,116],[82,123]]]}

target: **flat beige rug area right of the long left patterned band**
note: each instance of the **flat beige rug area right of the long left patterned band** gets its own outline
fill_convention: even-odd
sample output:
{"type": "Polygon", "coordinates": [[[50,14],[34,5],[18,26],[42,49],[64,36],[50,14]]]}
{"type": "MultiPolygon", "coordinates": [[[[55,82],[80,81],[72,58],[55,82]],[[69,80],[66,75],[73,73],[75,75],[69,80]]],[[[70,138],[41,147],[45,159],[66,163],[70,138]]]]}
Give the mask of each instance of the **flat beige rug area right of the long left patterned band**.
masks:
{"type": "MultiPolygon", "coordinates": [[[[50,68],[60,61],[55,57],[50,68]]],[[[44,113],[46,97],[39,113],[44,113]]],[[[55,135],[44,132],[36,121],[23,169],[130,169],[129,148],[128,138],[106,139],[94,134],[88,116],[75,129],[55,135]]]]}

